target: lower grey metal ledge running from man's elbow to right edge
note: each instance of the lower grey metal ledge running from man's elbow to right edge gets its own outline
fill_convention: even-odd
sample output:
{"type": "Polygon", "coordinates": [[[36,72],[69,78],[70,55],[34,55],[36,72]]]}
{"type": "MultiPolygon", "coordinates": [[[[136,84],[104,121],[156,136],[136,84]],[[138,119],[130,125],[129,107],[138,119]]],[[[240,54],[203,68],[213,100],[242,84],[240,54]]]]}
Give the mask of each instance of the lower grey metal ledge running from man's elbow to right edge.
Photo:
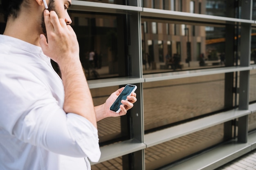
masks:
{"type": "MultiPolygon", "coordinates": [[[[256,104],[251,104],[249,108],[256,108],[256,104]]],[[[212,115],[209,117],[205,117],[202,119],[198,119],[195,121],[191,121],[185,124],[181,124],[178,126],[174,126],[171,128],[166,128],[164,130],[159,130],[157,132],[153,132],[150,134],[144,135],[144,143],[137,141],[136,139],[130,139],[127,141],[123,141],[117,144],[112,144],[108,146],[101,147],[101,158],[99,162],[108,161],[110,159],[114,159],[123,155],[127,155],[132,152],[136,152],[138,150],[142,150],[151,146],[155,146],[157,144],[161,144],[165,141],[169,141],[171,139],[175,139],[177,137],[182,137],[184,135],[188,135],[192,132],[196,132],[211,126],[215,126],[217,124],[224,123],[226,121],[236,119],[238,117],[248,115],[252,113],[252,110],[229,110],[227,112],[218,113],[216,115],[212,115]]],[[[251,149],[256,148],[256,136],[252,138],[253,135],[249,135],[248,144],[251,146],[251,149]]],[[[242,145],[234,145],[234,152],[238,152],[240,149],[239,147],[244,148],[247,147],[248,144],[242,145]]],[[[229,147],[229,146],[228,146],[229,147]]],[[[230,150],[228,148],[227,150],[230,150]]],[[[216,151],[215,151],[216,152],[216,151]]],[[[216,157],[220,156],[223,153],[218,154],[216,152],[216,157]]],[[[91,163],[92,165],[97,163],[91,163]]]]}

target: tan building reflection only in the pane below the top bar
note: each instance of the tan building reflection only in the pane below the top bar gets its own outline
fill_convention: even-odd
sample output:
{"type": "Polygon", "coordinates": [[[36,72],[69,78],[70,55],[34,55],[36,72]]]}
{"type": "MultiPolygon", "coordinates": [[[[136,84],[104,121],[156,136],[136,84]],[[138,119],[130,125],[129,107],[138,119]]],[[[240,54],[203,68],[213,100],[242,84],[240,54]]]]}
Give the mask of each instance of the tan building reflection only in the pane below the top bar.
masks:
{"type": "MultiPolygon", "coordinates": [[[[141,30],[146,39],[145,51],[150,55],[155,56],[155,62],[164,62],[167,53],[178,54],[181,56],[181,61],[185,62],[187,58],[186,43],[191,42],[191,60],[197,61],[200,53],[205,53],[205,31],[202,31],[205,26],[193,26],[185,24],[175,24],[175,22],[152,22],[155,19],[142,18],[144,22],[141,30]],[[157,30],[156,33],[153,33],[157,30]],[[150,44],[148,44],[150,43],[150,44]],[[153,47],[152,47],[153,45],[153,47]]],[[[144,46],[143,46],[144,47],[144,46]]]]}

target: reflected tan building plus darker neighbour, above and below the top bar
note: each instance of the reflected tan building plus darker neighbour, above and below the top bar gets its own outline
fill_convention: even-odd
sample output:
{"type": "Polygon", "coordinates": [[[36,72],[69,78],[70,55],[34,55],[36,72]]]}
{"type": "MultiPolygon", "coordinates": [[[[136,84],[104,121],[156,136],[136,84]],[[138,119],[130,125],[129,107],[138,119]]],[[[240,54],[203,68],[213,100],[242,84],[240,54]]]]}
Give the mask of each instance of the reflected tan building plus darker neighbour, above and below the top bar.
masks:
{"type": "MultiPolygon", "coordinates": [[[[182,5],[181,0],[172,1],[144,1],[144,7],[202,13],[208,15],[226,16],[226,1],[222,0],[196,0],[182,5]],[[161,3],[162,2],[162,3],[161,3]],[[166,4],[167,3],[167,4],[166,4]]],[[[225,29],[223,26],[200,26],[190,23],[175,22],[175,20],[161,20],[155,22],[154,18],[142,18],[142,42],[144,51],[155,56],[155,62],[164,62],[167,53],[178,54],[181,61],[198,61],[200,54],[210,56],[212,51],[224,52],[225,29]],[[187,38],[186,38],[187,36],[187,38]],[[145,38],[145,41],[144,41],[145,38]],[[148,41],[150,40],[150,41],[148,41]],[[211,41],[209,41],[211,40],[211,41]],[[207,41],[207,42],[206,42],[207,41]],[[150,42],[150,44],[147,44],[150,42]]],[[[212,57],[209,57],[211,60],[212,57]]]]}

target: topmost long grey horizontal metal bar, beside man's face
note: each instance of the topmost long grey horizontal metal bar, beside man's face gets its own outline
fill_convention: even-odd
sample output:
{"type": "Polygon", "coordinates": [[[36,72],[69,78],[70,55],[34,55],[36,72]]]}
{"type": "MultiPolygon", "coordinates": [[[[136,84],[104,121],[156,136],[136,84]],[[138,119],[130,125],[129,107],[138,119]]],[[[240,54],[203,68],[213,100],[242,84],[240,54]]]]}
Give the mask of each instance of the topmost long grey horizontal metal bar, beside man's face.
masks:
{"type": "Polygon", "coordinates": [[[249,23],[256,26],[256,21],[245,20],[239,18],[229,18],[213,15],[205,15],[198,13],[187,13],[180,11],[170,11],[164,9],[153,9],[144,7],[135,7],[129,5],[119,5],[119,4],[109,4],[109,3],[99,3],[99,2],[88,2],[81,0],[73,0],[70,10],[78,11],[92,11],[101,13],[132,13],[140,12],[141,16],[157,17],[157,18],[173,18],[178,20],[190,20],[190,21],[200,21],[200,22],[213,22],[213,23],[249,23]]]}

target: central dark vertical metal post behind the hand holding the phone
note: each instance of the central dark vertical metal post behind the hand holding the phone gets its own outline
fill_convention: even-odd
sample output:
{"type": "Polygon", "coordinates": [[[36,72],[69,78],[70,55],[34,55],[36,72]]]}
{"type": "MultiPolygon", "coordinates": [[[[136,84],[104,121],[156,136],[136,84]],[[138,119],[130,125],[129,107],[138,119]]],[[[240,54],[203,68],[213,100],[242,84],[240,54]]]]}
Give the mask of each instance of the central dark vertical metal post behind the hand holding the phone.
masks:
{"type": "MultiPolygon", "coordinates": [[[[139,6],[139,2],[137,4],[139,6]]],[[[130,34],[130,44],[128,45],[128,55],[130,56],[131,76],[142,77],[142,53],[141,53],[141,18],[140,13],[132,13],[128,17],[128,30],[130,34]]],[[[143,143],[143,86],[137,85],[137,102],[130,110],[130,138],[143,143]]],[[[123,156],[123,170],[144,170],[144,150],[139,150],[123,156]],[[128,164],[127,164],[128,163],[128,164]]]]}

